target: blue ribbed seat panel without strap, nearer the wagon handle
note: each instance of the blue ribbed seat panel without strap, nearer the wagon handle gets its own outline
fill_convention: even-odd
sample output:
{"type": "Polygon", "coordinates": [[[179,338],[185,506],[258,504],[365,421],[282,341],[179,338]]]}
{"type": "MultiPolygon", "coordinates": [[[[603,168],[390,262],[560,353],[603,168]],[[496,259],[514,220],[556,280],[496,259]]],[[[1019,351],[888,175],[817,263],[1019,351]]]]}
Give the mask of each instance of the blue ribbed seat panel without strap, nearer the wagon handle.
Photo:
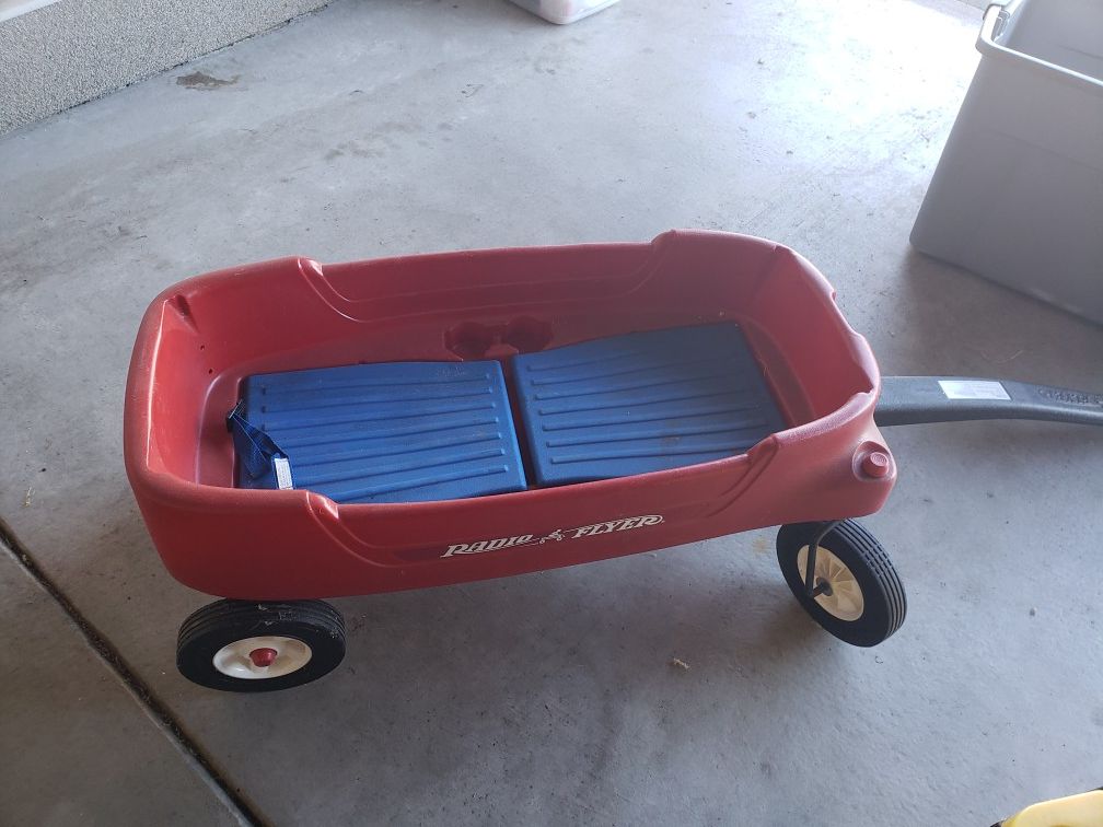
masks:
{"type": "Polygon", "coordinates": [[[514,356],[513,373],[537,485],[731,457],[785,428],[733,323],[514,356]]]}

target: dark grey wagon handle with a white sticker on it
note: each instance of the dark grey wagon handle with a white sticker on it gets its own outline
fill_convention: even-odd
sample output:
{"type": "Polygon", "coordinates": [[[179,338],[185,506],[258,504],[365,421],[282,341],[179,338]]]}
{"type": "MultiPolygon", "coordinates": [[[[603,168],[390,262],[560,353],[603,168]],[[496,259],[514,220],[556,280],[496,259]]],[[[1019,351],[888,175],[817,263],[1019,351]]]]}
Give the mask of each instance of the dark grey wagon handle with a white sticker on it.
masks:
{"type": "Polygon", "coordinates": [[[1103,426],[1103,394],[962,376],[884,376],[879,426],[1036,419],[1103,426]]]}

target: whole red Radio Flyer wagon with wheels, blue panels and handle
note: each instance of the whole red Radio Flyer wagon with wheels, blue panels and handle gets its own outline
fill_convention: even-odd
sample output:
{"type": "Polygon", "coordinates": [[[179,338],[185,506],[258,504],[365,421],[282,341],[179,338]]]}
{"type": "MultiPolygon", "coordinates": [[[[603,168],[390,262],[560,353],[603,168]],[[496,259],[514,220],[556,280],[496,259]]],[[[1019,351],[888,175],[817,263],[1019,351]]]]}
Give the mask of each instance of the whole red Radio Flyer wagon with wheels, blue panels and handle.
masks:
{"type": "Polygon", "coordinates": [[[180,670],[261,691],[340,663],[321,598],[774,525],[801,604],[876,645],[906,610],[853,519],[896,481],[878,425],[994,417],[1103,423],[1103,397],[882,378],[801,256],[670,232],[181,282],[138,332],[124,439],[164,565],[226,598],[184,622],[180,670]]]}

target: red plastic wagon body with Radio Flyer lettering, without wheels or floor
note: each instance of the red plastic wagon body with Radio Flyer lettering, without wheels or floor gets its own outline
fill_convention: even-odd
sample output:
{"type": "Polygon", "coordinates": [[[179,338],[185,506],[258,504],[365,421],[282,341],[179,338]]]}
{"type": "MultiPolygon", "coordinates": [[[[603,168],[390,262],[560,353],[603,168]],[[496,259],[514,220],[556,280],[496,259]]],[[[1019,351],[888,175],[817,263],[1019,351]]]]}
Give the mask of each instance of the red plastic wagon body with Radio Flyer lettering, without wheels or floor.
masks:
{"type": "Polygon", "coordinates": [[[896,480],[880,376],[826,279],[785,247],[670,232],[651,244],[201,276],[150,305],[127,384],[127,473],[165,566],[211,594],[288,600],[569,566],[757,527],[876,512],[896,480]],[[738,322],[789,428],[681,469],[494,496],[336,504],[234,487],[226,412],[249,375],[500,358],[641,330],[738,322]]]}

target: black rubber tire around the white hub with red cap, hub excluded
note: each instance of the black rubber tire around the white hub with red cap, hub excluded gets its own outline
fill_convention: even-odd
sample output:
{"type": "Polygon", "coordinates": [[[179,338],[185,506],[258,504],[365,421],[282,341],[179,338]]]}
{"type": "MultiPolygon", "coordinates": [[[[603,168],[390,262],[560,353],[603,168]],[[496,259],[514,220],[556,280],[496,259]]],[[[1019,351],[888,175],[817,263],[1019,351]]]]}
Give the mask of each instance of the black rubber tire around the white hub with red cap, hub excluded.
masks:
{"type": "Polygon", "coordinates": [[[219,600],[192,613],[176,637],[180,674],[200,686],[231,692],[270,692],[309,684],[335,669],[344,653],[344,620],[321,600],[219,600]],[[295,672],[274,678],[238,678],[215,668],[215,653],[223,646],[260,635],[301,641],[310,646],[310,659],[295,672]]]}

